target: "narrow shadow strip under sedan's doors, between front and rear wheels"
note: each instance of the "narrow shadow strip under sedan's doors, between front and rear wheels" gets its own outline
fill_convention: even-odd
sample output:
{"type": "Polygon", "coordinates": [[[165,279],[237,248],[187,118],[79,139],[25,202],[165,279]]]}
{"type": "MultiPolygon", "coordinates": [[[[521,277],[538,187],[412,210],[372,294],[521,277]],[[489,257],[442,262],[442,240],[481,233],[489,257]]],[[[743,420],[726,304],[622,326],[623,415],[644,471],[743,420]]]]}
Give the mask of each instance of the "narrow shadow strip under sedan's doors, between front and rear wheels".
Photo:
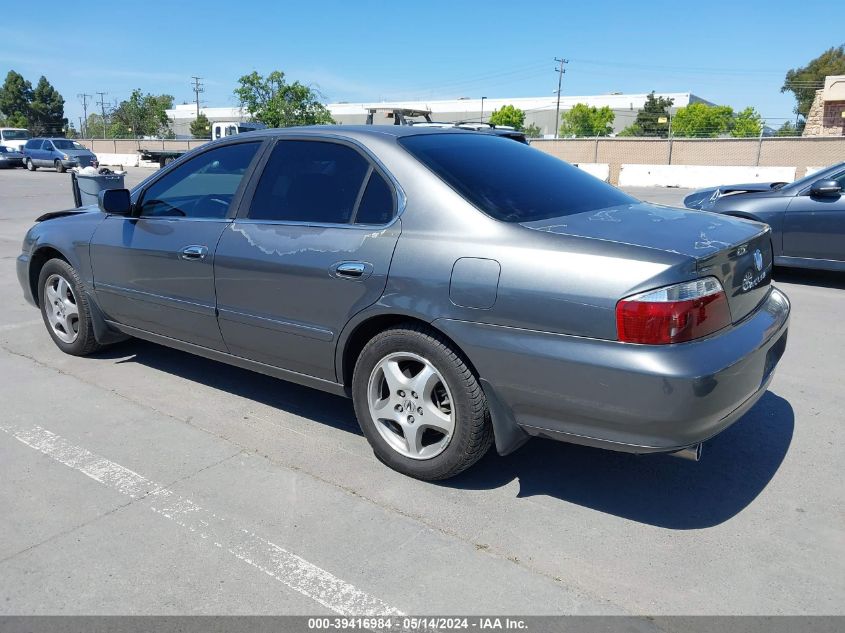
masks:
{"type": "Polygon", "coordinates": [[[355,419],[352,401],[316,389],[278,380],[253,371],[227,365],[201,356],[131,339],[98,353],[114,358],[117,364],[140,363],[186,380],[231,393],[363,436],[355,419]]]}

